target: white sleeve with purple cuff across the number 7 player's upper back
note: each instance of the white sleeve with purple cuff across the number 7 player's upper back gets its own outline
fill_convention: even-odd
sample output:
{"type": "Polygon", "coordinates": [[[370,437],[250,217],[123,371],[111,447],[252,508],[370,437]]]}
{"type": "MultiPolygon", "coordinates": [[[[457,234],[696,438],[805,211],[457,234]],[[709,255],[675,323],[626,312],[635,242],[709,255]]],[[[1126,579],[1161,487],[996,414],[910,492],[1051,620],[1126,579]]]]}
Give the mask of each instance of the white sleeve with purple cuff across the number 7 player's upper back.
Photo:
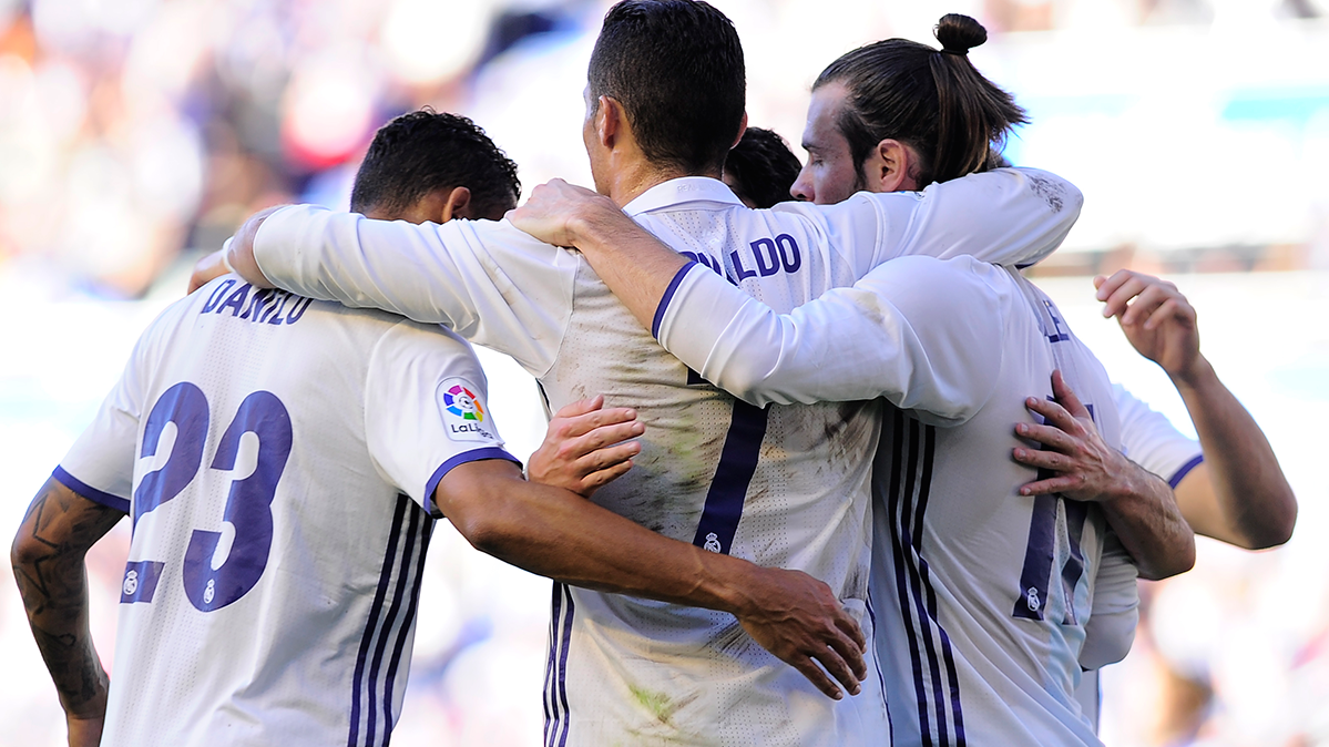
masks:
{"type": "Polygon", "coordinates": [[[1002,360],[1006,270],[909,257],[776,314],[706,267],[661,300],[661,344],[752,404],[886,397],[938,425],[987,401],[1002,360]]]}

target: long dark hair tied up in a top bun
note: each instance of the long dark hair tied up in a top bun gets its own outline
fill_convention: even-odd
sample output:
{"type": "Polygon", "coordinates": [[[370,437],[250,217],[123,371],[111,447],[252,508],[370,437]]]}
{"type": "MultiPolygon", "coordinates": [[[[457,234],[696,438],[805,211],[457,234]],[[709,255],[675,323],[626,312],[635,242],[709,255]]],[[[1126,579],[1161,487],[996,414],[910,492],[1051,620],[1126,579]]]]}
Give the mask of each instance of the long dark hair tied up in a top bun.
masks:
{"type": "Polygon", "coordinates": [[[886,138],[917,152],[921,163],[910,175],[920,185],[982,171],[993,167],[1011,129],[1029,121],[969,61],[969,49],[987,40],[982,24],[949,13],[933,33],[940,51],[905,39],[877,41],[831,62],[812,85],[848,89],[839,124],[856,171],[886,138]]]}

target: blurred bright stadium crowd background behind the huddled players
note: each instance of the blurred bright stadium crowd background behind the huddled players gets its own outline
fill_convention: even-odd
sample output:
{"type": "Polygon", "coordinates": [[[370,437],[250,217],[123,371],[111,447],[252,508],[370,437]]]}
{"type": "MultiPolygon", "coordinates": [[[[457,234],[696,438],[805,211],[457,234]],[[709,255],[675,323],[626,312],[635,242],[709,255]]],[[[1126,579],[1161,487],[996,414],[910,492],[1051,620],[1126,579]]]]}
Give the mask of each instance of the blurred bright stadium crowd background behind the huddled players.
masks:
{"type": "MultiPolygon", "coordinates": [[[[1104,674],[1112,746],[1329,744],[1329,13],[1326,0],[718,0],[747,49],[748,112],[795,146],[808,86],[867,41],[932,41],[945,12],[1033,124],[1019,165],[1087,203],[1039,268],[1118,380],[1193,432],[1167,379],[1098,314],[1090,276],[1166,274],[1203,350],[1265,428],[1301,501],[1267,553],[1201,541],[1143,584],[1104,674]]],[[[589,183],[585,65],[605,0],[0,0],[0,536],[88,423],[198,253],[279,202],[344,209],[375,128],[431,104],[474,118],[526,189],[589,183]]],[[[514,453],[542,433],[530,380],[484,356],[514,453]]],[[[436,534],[397,744],[537,744],[549,584],[436,534]]],[[[114,674],[122,524],[93,553],[114,674]]],[[[64,738],[11,584],[0,743],[64,738]]]]}

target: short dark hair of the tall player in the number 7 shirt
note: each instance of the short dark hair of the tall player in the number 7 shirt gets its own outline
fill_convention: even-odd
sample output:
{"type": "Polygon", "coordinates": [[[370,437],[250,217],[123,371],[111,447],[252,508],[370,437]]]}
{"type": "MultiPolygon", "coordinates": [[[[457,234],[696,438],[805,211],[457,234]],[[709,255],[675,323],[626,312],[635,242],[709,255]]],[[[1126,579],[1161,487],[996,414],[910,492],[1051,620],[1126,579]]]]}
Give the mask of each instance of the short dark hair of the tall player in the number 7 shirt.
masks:
{"type": "Polygon", "coordinates": [[[724,13],[700,0],[623,0],[605,15],[586,78],[623,105],[651,163],[715,170],[739,136],[747,78],[724,13]]]}

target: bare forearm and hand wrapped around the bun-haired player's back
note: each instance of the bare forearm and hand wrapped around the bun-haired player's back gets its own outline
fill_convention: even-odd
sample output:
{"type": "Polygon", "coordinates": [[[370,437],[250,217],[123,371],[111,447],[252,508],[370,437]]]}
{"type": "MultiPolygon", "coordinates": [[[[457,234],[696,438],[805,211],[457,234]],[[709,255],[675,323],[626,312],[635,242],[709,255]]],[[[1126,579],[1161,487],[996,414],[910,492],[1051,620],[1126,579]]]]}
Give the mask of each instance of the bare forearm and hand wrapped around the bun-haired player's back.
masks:
{"type": "Polygon", "coordinates": [[[1061,493],[1070,500],[1098,502],[1142,578],[1156,581],[1191,570],[1195,533],[1181,518],[1172,488],[1103,443],[1088,409],[1059,371],[1053,372],[1053,393],[1055,401],[1029,397],[1025,403],[1046,419],[1046,425],[1015,427],[1019,436],[1039,441],[1049,451],[1017,448],[1014,456],[1019,463],[1057,475],[1022,486],[1021,493],[1061,493]]]}

